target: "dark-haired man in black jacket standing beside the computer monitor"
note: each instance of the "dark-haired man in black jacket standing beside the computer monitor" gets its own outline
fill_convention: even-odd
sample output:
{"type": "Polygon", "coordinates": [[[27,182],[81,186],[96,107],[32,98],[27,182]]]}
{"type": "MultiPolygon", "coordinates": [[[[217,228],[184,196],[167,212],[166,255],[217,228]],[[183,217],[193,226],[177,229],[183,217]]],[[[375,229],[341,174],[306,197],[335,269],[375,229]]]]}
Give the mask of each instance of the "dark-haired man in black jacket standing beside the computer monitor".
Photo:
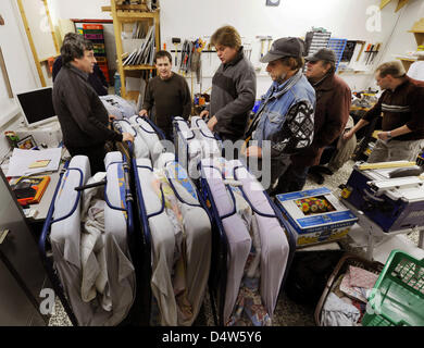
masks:
{"type": "Polygon", "coordinates": [[[63,142],[71,156],[85,154],[91,174],[104,171],[107,140],[133,141],[128,133],[117,134],[108,128],[108,111],[89,85],[96,58],[92,44],[75,34],[63,41],[63,66],[53,86],[53,107],[61,124],[63,142]]]}

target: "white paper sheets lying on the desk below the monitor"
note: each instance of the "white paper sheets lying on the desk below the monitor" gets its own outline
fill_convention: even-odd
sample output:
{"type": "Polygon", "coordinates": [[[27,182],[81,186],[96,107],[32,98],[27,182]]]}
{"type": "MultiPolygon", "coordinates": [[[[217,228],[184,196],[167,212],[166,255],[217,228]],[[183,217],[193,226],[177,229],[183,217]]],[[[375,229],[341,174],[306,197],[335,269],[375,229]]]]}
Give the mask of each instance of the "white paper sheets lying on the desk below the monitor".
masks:
{"type": "Polygon", "coordinates": [[[47,150],[22,150],[14,149],[9,162],[7,176],[22,176],[42,172],[54,172],[59,170],[62,148],[47,150]],[[42,167],[32,167],[38,161],[48,162],[42,167]]]}

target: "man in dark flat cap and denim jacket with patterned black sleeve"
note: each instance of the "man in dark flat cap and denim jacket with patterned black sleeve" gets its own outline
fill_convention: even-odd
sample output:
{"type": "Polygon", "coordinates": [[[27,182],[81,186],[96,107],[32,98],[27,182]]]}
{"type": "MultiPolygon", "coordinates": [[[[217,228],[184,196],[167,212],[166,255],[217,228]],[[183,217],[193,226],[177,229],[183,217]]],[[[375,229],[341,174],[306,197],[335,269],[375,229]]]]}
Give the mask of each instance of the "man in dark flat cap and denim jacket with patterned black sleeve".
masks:
{"type": "MultiPolygon", "coordinates": [[[[246,138],[253,140],[244,151],[247,158],[264,158],[264,141],[271,146],[271,187],[290,164],[290,156],[309,147],[313,139],[315,91],[302,73],[304,46],[295,37],[277,39],[261,59],[273,83],[262,97],[246,138]]],[[[266,187],[265,187],[266,188],[266,187]]]]}

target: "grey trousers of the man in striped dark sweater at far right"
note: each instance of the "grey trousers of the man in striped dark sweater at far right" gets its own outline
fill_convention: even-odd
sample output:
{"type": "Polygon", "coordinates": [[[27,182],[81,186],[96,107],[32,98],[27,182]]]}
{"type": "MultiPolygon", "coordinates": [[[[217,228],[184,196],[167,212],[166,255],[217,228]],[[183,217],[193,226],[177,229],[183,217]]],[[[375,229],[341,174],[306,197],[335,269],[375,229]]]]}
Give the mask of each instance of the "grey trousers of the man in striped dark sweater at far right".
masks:
{"type": "Polygon", "coordinates": [[[424,148],[424,139],[420,140],[388,140],[378,139],[371,152],[367,163],[412,161],[416,160],[420,150],[424,148]]]}

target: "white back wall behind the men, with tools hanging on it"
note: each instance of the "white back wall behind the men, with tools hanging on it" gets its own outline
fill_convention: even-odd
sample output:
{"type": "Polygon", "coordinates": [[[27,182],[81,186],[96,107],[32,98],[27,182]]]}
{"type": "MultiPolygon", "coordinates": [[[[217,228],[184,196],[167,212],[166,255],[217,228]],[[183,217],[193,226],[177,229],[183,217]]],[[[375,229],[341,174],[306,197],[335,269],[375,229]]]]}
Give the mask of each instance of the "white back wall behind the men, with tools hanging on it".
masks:
{"type": "MultiPolygon", "coordinates": [[[[266,7],[265,0],[214,0],[180,1],[161,0],[161,42],[169,50],[174,49],[172,37],[196,39],[209,36],[222,25],[235,26],[245,42],[252,46],[251,61],[261,67],[258,76],[258,96],[270,86],[265,64],[259,62],[261,44],[255,36],[271,35],[273,39],[284,36],[304,37],[312,26],[324,27],[332,32],[332,37],[367,42],[387,42],[399,17],[395,13],[396,3],[390,3],[382,11],[382,30],[369,32],[366,23],[370,15],[366,10],[379,4],[379,0],[284,0],[279,7],[266,7]]],[[[216,57],[203,53],[203,86],[211,86],[210,76],[220,64],[216,57]]],[[[364,57],[364,55],[362,55],[364,57]]],[[[377,58],[375,59],[377,61],[377,58]]],[[[370,73],[372,66],[367,67],[370,73]]],[[[352,89],[367,87],[372,75],[344,74],[341,77],[352,89]]],[[[189,83],[190,85],[190,83],[189,83]]],[[[199,86],[195,87],[199,91],[199,86]]]]}

